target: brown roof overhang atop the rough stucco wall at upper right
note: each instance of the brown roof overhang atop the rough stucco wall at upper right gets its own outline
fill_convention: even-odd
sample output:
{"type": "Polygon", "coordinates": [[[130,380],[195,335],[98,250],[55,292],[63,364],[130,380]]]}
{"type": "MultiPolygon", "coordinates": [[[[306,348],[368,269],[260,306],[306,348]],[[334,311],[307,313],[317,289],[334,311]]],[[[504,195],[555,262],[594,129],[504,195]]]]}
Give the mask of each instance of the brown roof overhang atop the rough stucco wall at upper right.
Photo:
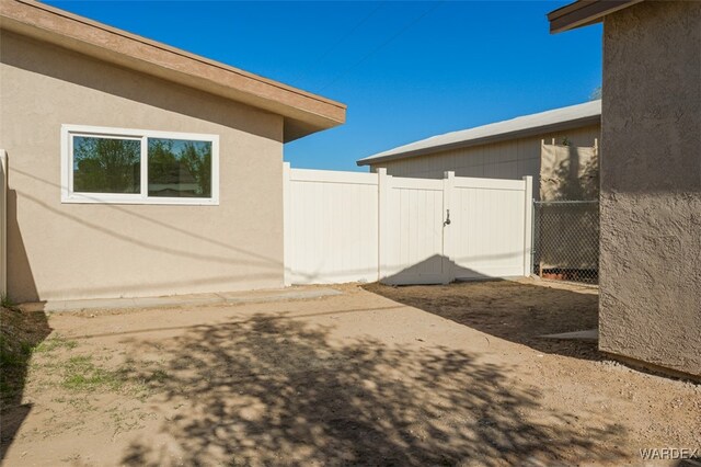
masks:
{"type": "Polygon", "coordinates": [[[604,16],[643,0],[578,0],[548,13],[550,32],[561,33],[600,22],[604,16]]]}

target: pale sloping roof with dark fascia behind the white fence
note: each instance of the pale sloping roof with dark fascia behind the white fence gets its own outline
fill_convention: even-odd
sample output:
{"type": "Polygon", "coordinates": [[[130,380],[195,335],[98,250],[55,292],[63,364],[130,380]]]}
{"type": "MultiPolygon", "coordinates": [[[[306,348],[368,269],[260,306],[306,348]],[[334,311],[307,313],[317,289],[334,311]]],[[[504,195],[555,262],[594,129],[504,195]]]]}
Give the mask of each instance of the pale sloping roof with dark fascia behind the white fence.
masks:
{"type": "Polygon", "coordinates": [[[400,146],[357,161],[358,166],[369,166],[395,159],[424,156],[448,149],[464,148],[489,143],[541,135],[562,129],[578,128],[601,122],[601,101],[555,109],[538,114],[525,115],[490,125],[446,133],[427,139],[400,146]]]}

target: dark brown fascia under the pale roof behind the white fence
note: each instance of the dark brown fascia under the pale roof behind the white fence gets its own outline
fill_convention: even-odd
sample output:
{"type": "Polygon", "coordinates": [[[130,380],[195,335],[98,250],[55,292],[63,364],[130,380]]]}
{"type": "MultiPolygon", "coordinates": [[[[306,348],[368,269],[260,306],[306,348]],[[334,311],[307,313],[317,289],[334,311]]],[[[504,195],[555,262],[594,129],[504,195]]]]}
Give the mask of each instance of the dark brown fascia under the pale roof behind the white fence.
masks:
{"type": "Polygon", "coordinates": [[[558,122],[550,125],[517,129],[514,132],[501,133],[498,135],[490,135],[481,138],[474,138],[467,141],[449,143],[445,145],[437,145],[428,148],[421,148],[421,149],[410,150],[405,152],[398,152],[398,153],[392,153],[387,156],[379,156],[379,157],[370,156],[368,158],[356,161],[356,164],[359,167],[376,166],[381,162],[389,162],[392,160],[435,155],[437,152],[444,152],[451,149],[462,149],[462,148],[469,148],[473,146],[487,145],[491,143],[505,141],[508,139],[525,138],[528,136],[541,135],[550,132],[559,132],[563,129],[572,129],[572,128],[578,128],[582,126],[596,125],[597,123],[600,123],[600,122],[601,122],[601,115],[589,115],[586,117],[575,118],[567,122],[558,122]]]}

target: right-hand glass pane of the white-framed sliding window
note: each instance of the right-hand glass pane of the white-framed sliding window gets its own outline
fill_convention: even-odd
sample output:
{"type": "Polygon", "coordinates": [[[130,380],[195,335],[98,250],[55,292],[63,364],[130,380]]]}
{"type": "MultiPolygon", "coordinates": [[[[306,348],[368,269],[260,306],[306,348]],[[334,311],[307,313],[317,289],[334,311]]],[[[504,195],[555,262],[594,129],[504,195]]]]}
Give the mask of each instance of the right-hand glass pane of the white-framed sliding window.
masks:
{"type": "Polygon", "coordinates": [[[211,197],[211,143],[149,138],[149,196],[211,197]]]}

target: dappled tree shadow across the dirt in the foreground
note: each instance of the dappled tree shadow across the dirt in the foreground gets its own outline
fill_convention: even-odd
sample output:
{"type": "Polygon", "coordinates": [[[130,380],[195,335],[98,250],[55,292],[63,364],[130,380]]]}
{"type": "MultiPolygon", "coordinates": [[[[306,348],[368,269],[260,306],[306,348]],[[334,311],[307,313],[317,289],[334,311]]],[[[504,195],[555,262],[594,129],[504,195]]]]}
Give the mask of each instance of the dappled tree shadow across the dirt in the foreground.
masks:
{"type": "Polygon", "coordinates": [[[122,463],[501,466],[622,456],[618,425],[544,410],[507,367],[441,346],[341,342],[330,331],[256,315],[135,343],[134,356],[169,360],[161,378],[148,365],[130,376],[181,409],[122,463]]]}

